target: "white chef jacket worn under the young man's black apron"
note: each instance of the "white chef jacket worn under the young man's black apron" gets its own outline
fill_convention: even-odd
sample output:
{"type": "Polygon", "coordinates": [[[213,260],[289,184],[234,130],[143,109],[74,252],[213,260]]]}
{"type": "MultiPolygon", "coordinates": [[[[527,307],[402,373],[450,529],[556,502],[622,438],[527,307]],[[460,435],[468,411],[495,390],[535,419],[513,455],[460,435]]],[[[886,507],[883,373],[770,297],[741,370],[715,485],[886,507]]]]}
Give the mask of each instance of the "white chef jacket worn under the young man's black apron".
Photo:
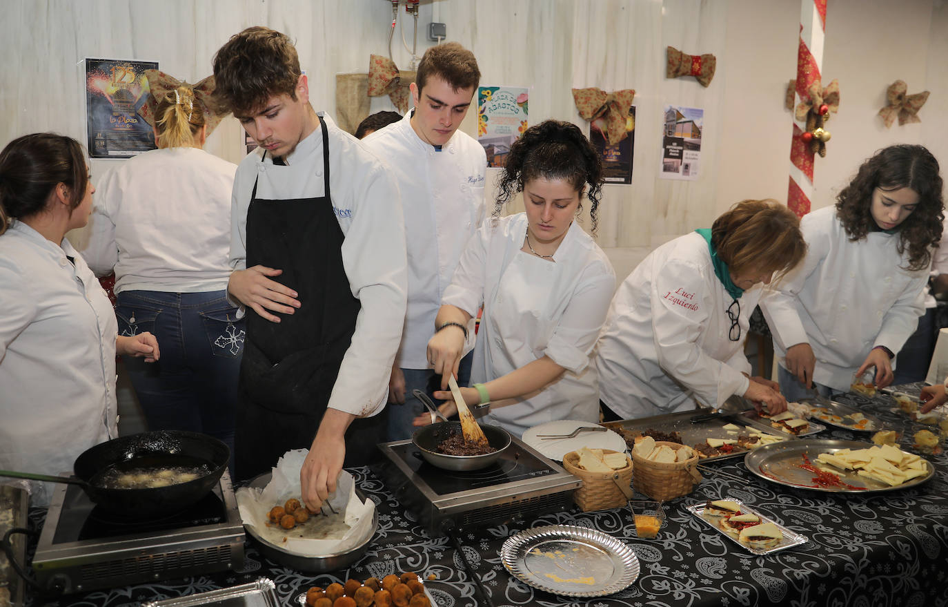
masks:
{"type": "MultiPolygon", "coordinates": [[[[362,308],[356,332],[339,367],[328,407],[370,416],[385,406],[392,361],[402,337],[406,300],[405,223],[392,173],[362,142],[323,116],[329,133],[329,189],[342,243],[342,266],[362,308]]],[[[246,268],[246,212],[257,197],[268,200],[324,195],[322,129],[317,128],[275,166],[264,148],[237,168],[231,210],[230,266],[246,268]],[[259,179],[258,179],[259,177],[259,179]]],[[[292,285],[291,285],[292,286],[292,285]]],[[[306,305],[306,302],[301,302],[306,305]]]]}

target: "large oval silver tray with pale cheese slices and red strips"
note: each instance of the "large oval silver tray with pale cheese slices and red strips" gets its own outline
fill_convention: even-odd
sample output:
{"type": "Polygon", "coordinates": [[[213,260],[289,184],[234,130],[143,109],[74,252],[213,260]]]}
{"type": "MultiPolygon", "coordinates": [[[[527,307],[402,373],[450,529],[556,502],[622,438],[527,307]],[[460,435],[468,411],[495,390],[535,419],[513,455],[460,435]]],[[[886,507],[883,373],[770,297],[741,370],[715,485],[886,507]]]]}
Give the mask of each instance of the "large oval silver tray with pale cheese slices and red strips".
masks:
{"type": "Polygon", "coordinates": [[[930,462],[892,445],[814,438],[769,445],[744,465],[778,485],[832,493],[874,493],[916,487],[935,474],[930,462]]]}

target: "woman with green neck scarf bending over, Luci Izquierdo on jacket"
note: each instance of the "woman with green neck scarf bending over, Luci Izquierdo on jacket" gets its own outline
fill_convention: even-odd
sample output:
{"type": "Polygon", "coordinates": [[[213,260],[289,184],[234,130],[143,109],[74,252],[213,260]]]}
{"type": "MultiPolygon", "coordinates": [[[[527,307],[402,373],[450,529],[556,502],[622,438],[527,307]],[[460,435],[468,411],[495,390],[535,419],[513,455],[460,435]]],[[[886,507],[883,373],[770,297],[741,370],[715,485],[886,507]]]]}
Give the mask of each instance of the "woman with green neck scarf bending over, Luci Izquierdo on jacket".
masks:
{"type": "Polygon", "coordinates": [[[750,377],[743,346],[763,285],[805,250],[786,206],[744,200],[652,251],[616,291],[596,348],[606,419],[718,408],[732,395],[785,410],[775,382],[750,377]]]}

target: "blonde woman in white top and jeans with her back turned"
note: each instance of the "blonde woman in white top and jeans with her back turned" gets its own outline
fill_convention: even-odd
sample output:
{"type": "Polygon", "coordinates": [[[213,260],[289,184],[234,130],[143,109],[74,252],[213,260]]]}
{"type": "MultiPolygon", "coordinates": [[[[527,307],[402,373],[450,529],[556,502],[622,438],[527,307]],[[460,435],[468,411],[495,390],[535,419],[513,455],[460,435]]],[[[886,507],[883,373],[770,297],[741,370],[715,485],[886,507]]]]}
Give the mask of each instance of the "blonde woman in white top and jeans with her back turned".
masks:
{"type": "Polygon", "coordinates": [[[100,276],[116,273],[119,333],[151,332],[165,346],[153,365],[124,359],[149,430],[203,432],[232,450],[245,335],[227,298],[237,165],[202,149],[223,118],[212,76],[194,85],[146,76],[139,113],[158,149],[102,177],[83,255],[100,276]]]}

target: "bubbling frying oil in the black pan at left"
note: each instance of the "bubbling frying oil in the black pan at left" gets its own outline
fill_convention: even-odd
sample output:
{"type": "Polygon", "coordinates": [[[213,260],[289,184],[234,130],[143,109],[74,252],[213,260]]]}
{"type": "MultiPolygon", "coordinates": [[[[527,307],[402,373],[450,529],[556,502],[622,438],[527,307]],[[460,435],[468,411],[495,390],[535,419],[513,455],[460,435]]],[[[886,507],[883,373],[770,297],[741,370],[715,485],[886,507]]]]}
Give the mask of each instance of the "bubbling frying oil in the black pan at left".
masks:
{"type": "Polygon", "coordinates": [[[210,474],[210,462],[196,457],[137,458],[113,464],[92,477],[91,485],[104,489],[147,489],[180,485],[210,474]]]}

